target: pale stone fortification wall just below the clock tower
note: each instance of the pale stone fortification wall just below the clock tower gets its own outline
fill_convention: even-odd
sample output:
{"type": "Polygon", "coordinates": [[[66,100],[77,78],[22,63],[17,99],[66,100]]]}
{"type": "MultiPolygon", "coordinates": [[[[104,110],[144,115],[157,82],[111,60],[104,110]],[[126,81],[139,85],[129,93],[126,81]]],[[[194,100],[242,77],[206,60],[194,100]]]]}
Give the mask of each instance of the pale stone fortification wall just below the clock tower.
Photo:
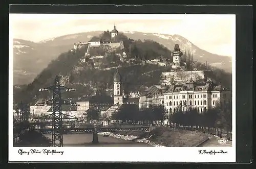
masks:
{"type": "Polygon", "coordinates": [[[198,70],[198,71],[173,71],[173,72],[163,72],[161,80],[172,81],[174,78],[175,81],[186,82],[190,78],[197,81],[200,79],[214,78],[213,71],[210,70],[198,70]]]}

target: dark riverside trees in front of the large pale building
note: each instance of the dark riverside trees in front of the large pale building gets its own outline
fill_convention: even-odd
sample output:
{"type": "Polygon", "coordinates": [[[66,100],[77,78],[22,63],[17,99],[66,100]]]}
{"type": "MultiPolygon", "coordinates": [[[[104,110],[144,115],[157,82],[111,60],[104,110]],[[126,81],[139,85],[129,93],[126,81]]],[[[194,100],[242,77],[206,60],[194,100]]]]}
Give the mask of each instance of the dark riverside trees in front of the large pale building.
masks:
{"type": "MultiPolygon", "coordinates": [[[[86,113],[88,120],[100,120],[103,118],[100,111],[90,109],[86,113]]],[[[227,134],[232,130],[232,105],[231,102],[225,104],[217,104],[215,108],[208,109],[204,112],[198,112],[198,109],[190,109],[188,111],[179,110],[175,113],[167,115],[163,106],[153,106],[151,108],[142,108],[135,104],[122,105],[119,111],[111,116],[114,120],[121,120],[121,123],[139,123],[153,124],[163,119],[175,124],[175,127],[186,127],[191,130],[203,128],[208,132],[216,129],[224,129],[227,134]]]]}

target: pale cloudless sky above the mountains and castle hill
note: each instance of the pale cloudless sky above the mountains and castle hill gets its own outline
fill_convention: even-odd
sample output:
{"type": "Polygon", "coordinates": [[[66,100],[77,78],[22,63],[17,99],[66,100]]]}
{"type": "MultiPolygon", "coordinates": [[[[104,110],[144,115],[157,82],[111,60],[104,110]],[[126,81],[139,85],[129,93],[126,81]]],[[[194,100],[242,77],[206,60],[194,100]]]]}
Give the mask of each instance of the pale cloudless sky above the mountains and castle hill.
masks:
{"type": "Polygon", "coordinates": [[[62,35],[105,31],[178,34],[201,49],[234,56],[235,15],[176,14],[10,14],[13,38],[38,42],[62,35]]]}

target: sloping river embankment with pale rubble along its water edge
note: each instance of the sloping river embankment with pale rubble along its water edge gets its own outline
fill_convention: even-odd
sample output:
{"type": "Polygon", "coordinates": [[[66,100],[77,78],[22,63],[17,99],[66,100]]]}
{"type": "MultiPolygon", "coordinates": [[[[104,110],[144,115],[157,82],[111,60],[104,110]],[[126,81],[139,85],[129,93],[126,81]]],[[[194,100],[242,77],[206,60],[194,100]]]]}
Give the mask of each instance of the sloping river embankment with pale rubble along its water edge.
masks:
{"type": "Polygon", "coordinates": [[[153,147],[197,147],[209,139],[207,134],[178,130],[172,128],[158,127],[151,132],[104,132],[100,135],[133,140],[150,144],[153,147]]]}

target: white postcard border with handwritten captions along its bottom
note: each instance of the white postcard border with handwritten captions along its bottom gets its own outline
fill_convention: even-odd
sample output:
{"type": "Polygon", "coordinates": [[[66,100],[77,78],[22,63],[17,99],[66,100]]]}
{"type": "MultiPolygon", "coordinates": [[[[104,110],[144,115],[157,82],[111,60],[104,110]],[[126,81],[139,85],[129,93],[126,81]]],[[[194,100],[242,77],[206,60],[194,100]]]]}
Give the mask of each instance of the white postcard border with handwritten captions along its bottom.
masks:
{"type": "MultiPolygon", "coordinates": [[[[59,17],[57,15],[65,15],[65,18],[83,18],[83,19],[102,19],[101,14],[21,14],[22,18],[53,18],[59,17]]],[[[195,14],[108,14],[109,19],[191,19],[195,18],[195,14]]],[[[10,18],[12,17],[9,15],[10,18]]],[[[13,147],[13,35],[12,25],[9,22],[9,161],[62,161],[62,162],[111,162],[111,161],[128,161],[128,162],[236,162],[236,15],[197,15],[200,18],[218,19],[230,18],[233,20],[232,26],[232,147],[201,147],[201,148],[185,148],[185,147],[62,147],[62,148],[32,148],[13,147]],[[33,154],[33,155],[19,155],[18,150],[30,151],[30,149],[42,149],[64,151],[63,155],[53,154],[33,154]],[[227,151],[228,154],[199,154],[198,150],[207,151],[227,151]],[[108,152],[99,153],[99,152],[108,152]],[[113,152],[113,155],[111,153],[113,152]]],[[[11,20],[11,19],[10,19],[11,20]]]]}

